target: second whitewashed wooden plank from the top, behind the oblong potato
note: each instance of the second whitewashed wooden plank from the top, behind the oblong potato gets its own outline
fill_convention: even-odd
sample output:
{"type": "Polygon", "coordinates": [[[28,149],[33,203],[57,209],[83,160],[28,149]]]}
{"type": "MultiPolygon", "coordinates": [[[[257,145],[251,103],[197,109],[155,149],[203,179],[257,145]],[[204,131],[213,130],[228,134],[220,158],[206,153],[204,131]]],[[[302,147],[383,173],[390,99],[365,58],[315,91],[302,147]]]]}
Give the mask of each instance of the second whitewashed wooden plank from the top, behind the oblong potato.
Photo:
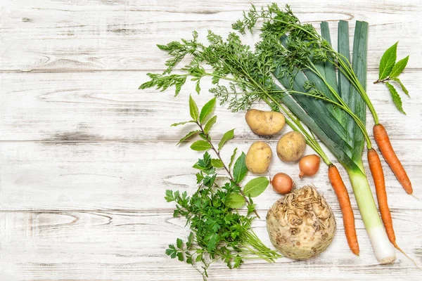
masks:
{"type": "MultiPolygon", "coordinates": [[[[402,74],[402,81],[411,94],[411,99],[401,94],[407,116],[400,114],[392,104],[385,85],[368,84],[369,96],[393,139],[422,136],[422,96],[418,95],[421,73],[414,70],[402,74]]],[[[368,81],[377,78],[377,72],[369,72],[368,81]]],[[[193,93],[200,105],[212,97],[207,93],[212,86],[210,79],[203,81],[200,96],[195,94],[195,84],[188,81],[177,98],[173,97],[174,89],[165,93],[155,89],[138,90],[146,80],[143,71],[3,73],[0,77],[0,141],[179,140],[193,125],[170,128],[170,124],[189,118],[189,93],[193,93]]],[[[257,108],[268,110],[266,105],[257,105],[257,108]]],[[[236,138],[240,140],[259,139],[248,128],[243,112],[233,114],[224,105],[217,106],[215,114],[218,115],[216,138],[236,128],[236,138]]],[[[367,120],[371,131],[373,119],[369,113],[367,120]]]]}

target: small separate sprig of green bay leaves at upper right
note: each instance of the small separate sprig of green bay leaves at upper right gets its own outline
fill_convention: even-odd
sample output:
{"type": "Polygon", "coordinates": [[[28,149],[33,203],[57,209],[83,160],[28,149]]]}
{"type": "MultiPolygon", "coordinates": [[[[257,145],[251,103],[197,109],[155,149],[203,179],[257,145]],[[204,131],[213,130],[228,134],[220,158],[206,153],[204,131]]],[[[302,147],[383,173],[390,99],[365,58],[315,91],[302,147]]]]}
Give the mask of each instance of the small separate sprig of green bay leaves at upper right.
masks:
{"type": "Polygon", "coordinates": [[[407,62],[409,61],[409,55],[396,63],[398,43],[399,42],[397,41],[383,54],[383,57],[380,61],[379,77],[378,80],[373,82],[373,84],[385,84],[388,87],[388,90],[390,90],[392,102],[395,104],[399,112],[402,112],[404,115],[406,115],[406,112],[403,110],[402,98],[400,98],[397,89],[395,89],[395,86],[390,83],[391,81],[395,81],[400,86],[402,91],[407,94],[407,96],[409,96],[409,91],[407,91],[406,87],[399,79],[399,75],[402,74],[404,68],[407,65],[407,62]]]}

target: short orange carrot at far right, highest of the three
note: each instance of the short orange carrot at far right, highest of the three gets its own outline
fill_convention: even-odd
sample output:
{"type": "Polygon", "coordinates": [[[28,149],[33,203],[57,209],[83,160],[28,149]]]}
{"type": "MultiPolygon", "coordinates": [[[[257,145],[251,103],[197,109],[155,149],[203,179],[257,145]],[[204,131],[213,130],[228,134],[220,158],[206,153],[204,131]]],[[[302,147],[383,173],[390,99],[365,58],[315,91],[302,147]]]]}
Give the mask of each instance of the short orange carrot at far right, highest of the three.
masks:
{"type": "Polygon", "coordinates": [[[407,176],[402,163],[400,163],[400,160],[397,158],[397,155],[391,146],[390,138],[388,138],[388,133],[385,131],[383,125],[376,124],[373,126],[373,138],[375,138],[376,144],[378,145],[378,148],[380,148],[385,162],[388,163],[399,183],[407,193],[412,194],[413,188],[411,187],[409,176],[407,176]]]}

